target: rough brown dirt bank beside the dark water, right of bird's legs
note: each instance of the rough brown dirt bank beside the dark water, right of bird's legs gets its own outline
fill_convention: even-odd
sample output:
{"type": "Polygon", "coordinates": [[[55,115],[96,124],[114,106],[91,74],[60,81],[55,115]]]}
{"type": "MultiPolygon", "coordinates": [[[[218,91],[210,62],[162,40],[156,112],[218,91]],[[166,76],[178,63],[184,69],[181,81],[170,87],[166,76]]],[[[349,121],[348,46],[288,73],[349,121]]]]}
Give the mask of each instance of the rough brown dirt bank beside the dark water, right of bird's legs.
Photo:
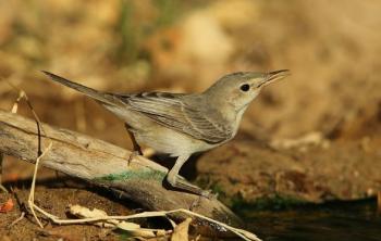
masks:
{"type": "Polygon", "coordinates": [[[197,178],[236,208],[374,198],[381,187],[380,141],[335,141],[303,151],[236,141],[205,154],[197,178]]]}

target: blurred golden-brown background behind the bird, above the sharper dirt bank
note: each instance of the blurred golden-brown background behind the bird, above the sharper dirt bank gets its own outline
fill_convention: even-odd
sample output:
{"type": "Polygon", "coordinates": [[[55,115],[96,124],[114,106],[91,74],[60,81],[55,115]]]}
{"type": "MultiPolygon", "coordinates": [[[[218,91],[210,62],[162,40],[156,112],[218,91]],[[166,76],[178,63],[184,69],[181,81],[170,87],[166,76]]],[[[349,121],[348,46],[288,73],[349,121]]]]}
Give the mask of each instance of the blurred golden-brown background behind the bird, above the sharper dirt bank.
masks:
{"type": "MultiPolygon", "coordinates": [[[[290,68],[292,77],[254,102],[244,128],[297,137],[332,134],[345,122],[354,125],[346,137],[357,138],[379,128],[356,120],[380,111],[379,4],[1,1],[0,75],[25,89],[36,107],[42,102],[38,113],[45,122],[101,135],[118,124],[93,113],[93,103],[89,112],[81,94],[46,81],[40,69],[100,90],[190,92],[231,72],[290,68]]],[[[0,106],[7,109],[13,93],[3,81],[0,91],[0,106]]]]}

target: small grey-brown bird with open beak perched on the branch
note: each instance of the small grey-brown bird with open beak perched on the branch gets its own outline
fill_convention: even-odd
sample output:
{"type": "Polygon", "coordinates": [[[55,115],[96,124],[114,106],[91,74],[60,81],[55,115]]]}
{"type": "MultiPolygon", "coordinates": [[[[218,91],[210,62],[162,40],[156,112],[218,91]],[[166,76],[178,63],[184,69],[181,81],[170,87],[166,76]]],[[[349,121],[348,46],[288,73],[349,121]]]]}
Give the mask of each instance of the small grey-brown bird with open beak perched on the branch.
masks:
{"type": "Polygon", "coordinates": [[[288,69],[235,72],[219,78],[200,93],[112,93],[83,86],[42,71],[51,80],[96,100],[125,123],[134,145],[140,144],[176,157],[167,174],[170,188],[208,196],[209,192],[179,176],[194,153],[222,145],[233,139],[243,114],[265,86],[288,76],[288,69]]]}

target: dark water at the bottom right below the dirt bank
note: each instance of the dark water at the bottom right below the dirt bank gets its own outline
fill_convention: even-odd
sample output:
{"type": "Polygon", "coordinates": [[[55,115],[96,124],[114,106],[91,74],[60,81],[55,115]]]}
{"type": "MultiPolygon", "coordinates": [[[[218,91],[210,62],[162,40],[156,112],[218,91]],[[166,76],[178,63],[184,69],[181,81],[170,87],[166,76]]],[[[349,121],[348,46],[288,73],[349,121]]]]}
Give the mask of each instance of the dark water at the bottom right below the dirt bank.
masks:
{"type": "Polygon", "coordinates": [[[266,241],[381,241],[374,201],[332,203],[293,211],[243,211],[251,230],[266,241]]]}

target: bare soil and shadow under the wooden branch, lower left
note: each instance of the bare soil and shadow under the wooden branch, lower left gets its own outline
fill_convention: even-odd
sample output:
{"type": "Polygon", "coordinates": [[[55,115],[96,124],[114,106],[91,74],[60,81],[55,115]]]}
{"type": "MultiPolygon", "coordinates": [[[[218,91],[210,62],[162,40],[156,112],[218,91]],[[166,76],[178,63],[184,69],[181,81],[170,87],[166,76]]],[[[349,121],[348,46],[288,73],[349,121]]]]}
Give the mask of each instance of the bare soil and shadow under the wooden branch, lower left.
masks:
{"type": "MultiPolygon", "coordinates": [[[[27,169],[30,169],[30,166],[28,165],[27,169]]],[[[61,218],[74,218],[67,213],[71,204],[103,210],[110,215],[128,215],[132,213],[131,208],[128,208],[131,204],[123,203],[115,195],[88,185],[78,186],[76,185],[78,180],[74,182],[67,177],[56,177],[52,172],[47,169],[42,169],[41,173],[50,173],[51,177],[45,177],[38,181],[35,193],[36,204],[50,214],[61,218]]],[[[5,175],[5,187],[12,187],[12,192],[8,194],[2,193],[0,203],[12,199],[15,206],[12,211],[0,215],[1,240],[121,240],[123,238],[122,234],[116,234],[110,229],[102,229],[96,225],[53,225],[40,215],[39,217],[45,228],[39,228],[27,208],[29,186],[29,178],[7,181],[5,175]],[[23,212],[25,217],[10,226],[23,212]]]]}

